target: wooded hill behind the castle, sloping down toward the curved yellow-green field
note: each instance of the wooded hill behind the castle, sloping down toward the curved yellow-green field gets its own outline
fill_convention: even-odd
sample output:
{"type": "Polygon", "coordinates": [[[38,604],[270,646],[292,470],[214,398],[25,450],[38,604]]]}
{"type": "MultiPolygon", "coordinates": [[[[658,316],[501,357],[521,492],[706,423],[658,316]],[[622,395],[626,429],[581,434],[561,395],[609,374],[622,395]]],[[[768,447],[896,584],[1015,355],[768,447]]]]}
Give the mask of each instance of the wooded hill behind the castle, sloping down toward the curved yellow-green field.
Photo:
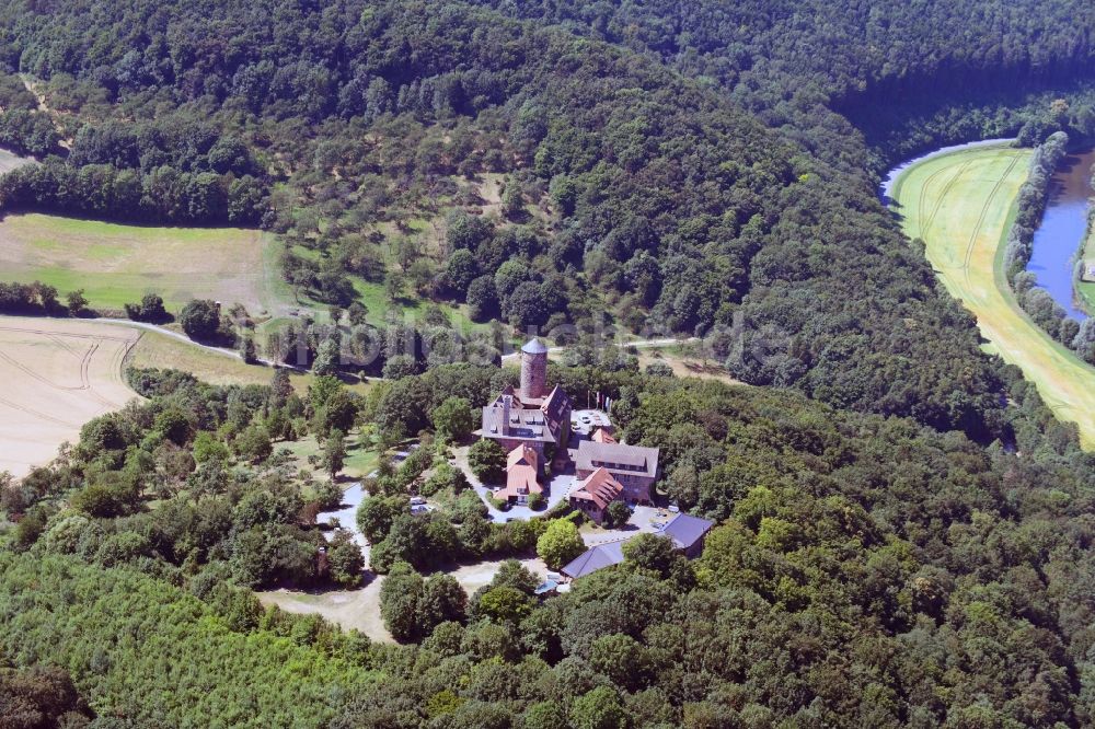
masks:
{"type": "MultiPolygon", "coordinates": [[[[396,251],[388,278],[473,298],[484,315],[521,326],[586,331],[601,312],[621,312],[636,331],[731,331],[714,337],[715,356],[747,382],[1008,437],[1000,380],[969,317],[936,290],[862,170],[848,171],[865,161],[862,146],[834,166],[733,95],[653,59],[458,3],[51,10],[12,4],[0,58],[49,80],[74,144],[64,166],[81,165],[68,174],[83,174],[84,162],[136,165],[127,174],[145,188],[178,164],[142,171],[148,155],[127,151],[131,135],[83,125],[153,112],[150,129],[217,119],[270,182],[288,181],[270,193],[267,223],[285,233],[287,277],[321,300],[348,305],[347,276],[376,275],[394,247],[369,234],[378,224],[424,206],[440,215],[461,180],[505,173],[529,220],[463,224],[457,215],[438,254],[425,241],[405,257],[396,251]],[[95,22],[70,21],[87,16],[95,22]],[[293,253],[303,250],[319,261],[293,253]],[[470,257],[454,255],[462,250],[470,257]],[[516,270],[503,275],[507,261],[516,270]]],[[[187,152],[195,172],[177,173],[193,176],[184,189],[224,189],[219,143],[187,152]]],[[[42,174],[23,173],[5,190],[11,204],[56,207],[51,186],[34,184],[42,174]]],[[[180,207],[172,195],[146,198],[180,207]]],[[[211,201],[185,209],[229,209],[219,196],[198,198],[211,201]]]]}

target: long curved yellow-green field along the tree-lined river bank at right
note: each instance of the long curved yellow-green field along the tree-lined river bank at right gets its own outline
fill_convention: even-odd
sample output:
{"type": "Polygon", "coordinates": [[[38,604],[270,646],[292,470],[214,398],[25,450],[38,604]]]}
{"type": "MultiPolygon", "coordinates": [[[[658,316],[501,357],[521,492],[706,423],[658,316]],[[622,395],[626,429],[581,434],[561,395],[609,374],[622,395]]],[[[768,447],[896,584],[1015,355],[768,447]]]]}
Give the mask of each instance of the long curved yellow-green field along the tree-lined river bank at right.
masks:
{"type": "Polygon", "coordinates": [[[907,170],[892,198],[910,238],[920,238],[947,290],[978,321],[991,350],[1023,370],[1062,420],[1095,447],[1095,368],[1019,309],[1003,273],[1004,239],[1026,180],[1030,150],[980,147],[907,170]]]}

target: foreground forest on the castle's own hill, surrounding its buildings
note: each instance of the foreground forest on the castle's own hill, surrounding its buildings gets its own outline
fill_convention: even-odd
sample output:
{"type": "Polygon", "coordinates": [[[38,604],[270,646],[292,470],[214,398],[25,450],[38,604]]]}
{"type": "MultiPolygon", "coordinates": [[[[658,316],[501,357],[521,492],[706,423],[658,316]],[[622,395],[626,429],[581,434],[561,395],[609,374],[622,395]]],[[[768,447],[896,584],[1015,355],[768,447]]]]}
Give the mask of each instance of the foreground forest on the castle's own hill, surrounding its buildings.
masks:
{"type": "Polygon", "coordinates": [[[1092,456],[1014,375],[1023,456],[792,393],[553,368],[579,396],[613,395],[629,441],[662,449],[668,494],[719,522],[702,558],[639,540],[623,565],[566,595],[534,600],[535,581],[515,563],[465,601],[451,577],[417,570],[522,556],[522,530],[565,519],[492,525],[442,477],[451,514],[382,523],[384,495],[405,502],[406,484],[436,456],[408,460],[370,485],[376,507],[359,514],[368,533],[379,530],[374,553],[399,586],[382,605],[403,647],[263,610],[245,589],[331,579],[315,572],[306,516],[322,484],[288,477],[278,443],[356,419],[380,432],[422,426],[423,442],[437,442],[420,452],[440,455],[450,436],[418,414],[440,424],[445,401],[483,402],[511,375],[446,366],[364,401],[333,382],[302,398],[284,380],[211,387],[182,373],[131,377],[146,404],[89,424],[62,462],[4,491],[4,508],[27,514],[0,555],[4,657],[71,671],[93,726],[1095,718],[1092,456]]]}

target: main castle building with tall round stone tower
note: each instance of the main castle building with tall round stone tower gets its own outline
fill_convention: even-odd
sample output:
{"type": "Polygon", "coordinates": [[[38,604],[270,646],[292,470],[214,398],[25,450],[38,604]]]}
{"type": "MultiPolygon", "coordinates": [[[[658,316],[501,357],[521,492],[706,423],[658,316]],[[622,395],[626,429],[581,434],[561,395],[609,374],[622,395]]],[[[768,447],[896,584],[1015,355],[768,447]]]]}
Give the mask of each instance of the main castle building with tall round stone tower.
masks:
{"type": "Polygon", "coordinates": [[[548,391],[548,348],[532,338],[521,348],[520,390],[506,386],[483,408],[476,435],[498,441],[507,451],[528,445],[541,460],[549,445],[565,454],[572,409],[570,398],[562,387],[548,391]]]}

